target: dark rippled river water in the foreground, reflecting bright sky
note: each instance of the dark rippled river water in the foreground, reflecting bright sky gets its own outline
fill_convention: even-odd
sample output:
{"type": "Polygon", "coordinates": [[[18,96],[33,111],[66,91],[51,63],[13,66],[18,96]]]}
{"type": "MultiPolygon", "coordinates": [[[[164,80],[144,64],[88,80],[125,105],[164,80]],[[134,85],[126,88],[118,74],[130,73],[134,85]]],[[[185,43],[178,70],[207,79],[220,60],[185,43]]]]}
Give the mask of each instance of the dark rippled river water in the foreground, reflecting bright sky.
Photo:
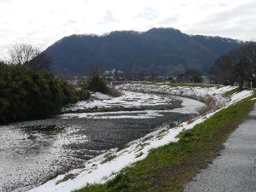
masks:
{"type": "MultiPolygon", "coordinates": [[[[102,115],[98,114],[98,119],[62,115],[0,126],[0,191],[32,189],[70,167],[183,117],[166,112],[147,119],[134,119],[129,112],[104,113],[111,119],[102,115]]],[[[133,117],[143,115],[147,112],[132,113],[133,117]]]]}

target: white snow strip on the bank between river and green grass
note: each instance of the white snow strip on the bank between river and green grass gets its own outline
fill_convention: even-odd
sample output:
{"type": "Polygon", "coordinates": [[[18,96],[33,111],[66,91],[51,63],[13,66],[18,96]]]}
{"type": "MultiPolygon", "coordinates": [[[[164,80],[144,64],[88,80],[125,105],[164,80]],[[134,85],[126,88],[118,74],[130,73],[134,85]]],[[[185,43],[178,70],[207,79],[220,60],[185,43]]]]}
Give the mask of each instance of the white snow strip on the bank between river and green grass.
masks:
{"type": "MultiPolygon", "coordinates": [[[[145,88],[142,88],[142,89],[146,90],[145,88]]],[[[148,90],[150,89],[157,90],[157,87],[149,86],[148,90]]],[[[208,89],[208,88],[201,88],[200,90],[198,90],[198,94],[200,96],[206,97],[210,95],[210,96],[214,96],[214,98],[218,98],[218,96],[220,98],[220,97],[223,97],[221,95],[225,91],[232,90],[234,89],[234,87],[232,89],[220,88],[222,90],[212,89],[211,94],[210,94],[211,90],[207,92],[207,91],[204,91],[203,89],[208,89]]],[[[164,87],[163,90],[168,91],[168,87],[164,87]]],[[[221,98],[222,104],[224,104],[223,108],[227,108],[231,104],[238,102],[241,99],[251,95],[252,95],[252,91],[244,90],[240,93],[230,96],[230,98],[223,97],[221,98]]],[[[187,100],[187,102],[189,101],[187,100]]],[[[177,141],[176,136],[180,133],[180,131],[193,128],[196,124],[203,122],[205,119],[211,117],[214,113],[216,112],[208,113],[206,116],[195,119],[195,121],[193,121],[191,124],[184,122],[181,125],[178,125],[177,127],[172,129],[169,129],[168,126],[163,127],[162,130],[154,131],[148,134],[146,137],[143,137],[137,141],[133,141],[129,143],[127,148],[123,150],[118,151],[117,148],[113,148],[112,150],[108,151],[106,154],[102,154],[86,162],[84,164],[85,167],[83,169],[77,169],[67,173],[67,174],[72,173],[73,175],[78,174],[77,177],[73,179],[69,179],[65,182],[56,184],[58,181],[61,181],[61,179],[65,177],[65,175],[60,175],[55,179],[49,181],[48,183],[44,183],[44,185],[39,186],[37,189],[32,189],[30,191],[42,191],[42,192],[43,191],[44,192],[72,191],[73,189],[79,189],[83,187],[86,183],[103,183],[108,178],[113,177],[114,175],[113,172],[119,172],[119,170],[121,170],[123,167],[129,166],[131,165],[131,163],[145,158],[150,148],[157,148],[166,143],[177,141]],[[113,160],[107,161],[108,159],[111,159],[111,158],[108,158],[111,156],[115,156],[115,158],[113,160]]]]}

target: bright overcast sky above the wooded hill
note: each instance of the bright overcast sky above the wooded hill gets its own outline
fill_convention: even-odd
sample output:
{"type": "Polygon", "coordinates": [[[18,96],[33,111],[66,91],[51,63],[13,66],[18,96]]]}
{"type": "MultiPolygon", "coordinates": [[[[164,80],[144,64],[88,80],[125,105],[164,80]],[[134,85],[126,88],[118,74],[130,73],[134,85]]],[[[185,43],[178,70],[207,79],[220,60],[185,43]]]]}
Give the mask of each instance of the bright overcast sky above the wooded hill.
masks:
{"type": "Polygon", "coordinates": [[[256,0],[0,0],[0,59],[10,44],[44,50],[72,34],[173,27],[256,39],[256,0]]]}

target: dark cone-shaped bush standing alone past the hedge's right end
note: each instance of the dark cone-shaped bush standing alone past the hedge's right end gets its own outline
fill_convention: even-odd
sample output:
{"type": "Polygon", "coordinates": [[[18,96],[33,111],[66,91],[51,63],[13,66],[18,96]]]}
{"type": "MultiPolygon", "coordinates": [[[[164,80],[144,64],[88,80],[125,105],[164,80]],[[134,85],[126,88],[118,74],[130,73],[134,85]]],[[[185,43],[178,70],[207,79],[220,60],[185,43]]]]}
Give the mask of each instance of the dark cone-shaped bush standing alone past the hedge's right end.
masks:
{"type": "Polygon", "coordinates": [[[82,90],[91,90],[94,92],[108,93],[109,89],[107,84],[99,75],[94,75],[89,81],[84,84],[82,90]]]}

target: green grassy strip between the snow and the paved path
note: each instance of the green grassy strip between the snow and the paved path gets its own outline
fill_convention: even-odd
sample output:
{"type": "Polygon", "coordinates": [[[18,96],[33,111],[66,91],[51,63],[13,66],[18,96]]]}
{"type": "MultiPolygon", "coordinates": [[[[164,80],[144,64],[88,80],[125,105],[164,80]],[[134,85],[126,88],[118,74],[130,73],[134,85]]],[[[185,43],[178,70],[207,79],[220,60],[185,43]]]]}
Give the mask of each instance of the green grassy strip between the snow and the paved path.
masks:
{"type": "Polygon", "coordinates": [[[126,167],[107,183],[87,185],[76,192],[182,191],[183,184],[218,155],[226,138],[247,118],[255,103],[250,99],[183,131],[177,143],[151,150],[147,158],[126,167]]]}

